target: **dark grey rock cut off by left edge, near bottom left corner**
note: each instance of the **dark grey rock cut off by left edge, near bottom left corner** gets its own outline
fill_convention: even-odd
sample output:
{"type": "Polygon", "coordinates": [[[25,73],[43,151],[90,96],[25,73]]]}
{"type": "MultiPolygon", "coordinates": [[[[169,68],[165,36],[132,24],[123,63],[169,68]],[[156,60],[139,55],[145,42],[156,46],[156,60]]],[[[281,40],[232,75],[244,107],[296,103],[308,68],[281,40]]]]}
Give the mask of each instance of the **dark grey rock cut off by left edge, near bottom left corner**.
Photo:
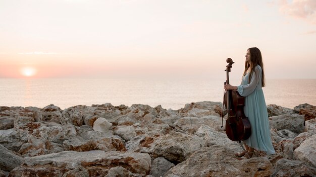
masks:
{"type": "Polygon", "coordinates": [[[23,158],[0,144],[0,169],[11,171],[23,163],[23,158]]]}

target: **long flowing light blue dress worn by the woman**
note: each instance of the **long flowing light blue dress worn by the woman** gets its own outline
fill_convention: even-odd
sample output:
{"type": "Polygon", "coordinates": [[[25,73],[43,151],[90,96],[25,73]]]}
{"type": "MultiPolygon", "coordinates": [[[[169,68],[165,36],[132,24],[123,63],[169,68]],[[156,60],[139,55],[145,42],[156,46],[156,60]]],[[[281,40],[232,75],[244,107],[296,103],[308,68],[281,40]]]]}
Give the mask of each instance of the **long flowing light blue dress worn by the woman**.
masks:
{"type": "Polygon", "coordinates": [[[270,126],[268,120],[268,111],[264,92],[262,91],[262,69],[259,65],[254,68],[249,83],[250,73],[242,77],[241,84],[238,86],[238,93],[245,97],[244,113],[248,117],[251,125],[250,137],[243,141],[249,147],[260,151],[266,151],[268,155],[274,154],[270,126]]]}

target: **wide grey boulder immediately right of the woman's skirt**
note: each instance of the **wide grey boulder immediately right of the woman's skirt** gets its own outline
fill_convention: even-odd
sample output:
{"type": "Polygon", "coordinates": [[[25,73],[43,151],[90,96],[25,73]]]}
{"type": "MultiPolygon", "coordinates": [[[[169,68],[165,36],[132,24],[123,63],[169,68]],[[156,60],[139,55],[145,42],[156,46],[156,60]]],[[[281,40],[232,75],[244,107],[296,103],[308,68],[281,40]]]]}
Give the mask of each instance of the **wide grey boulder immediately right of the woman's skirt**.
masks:
{"type": "Polygon", "coordinates": [[[287,129],[294,133],[304,131],[304,117],[298,114],[284,114],[269,118],[270,128],[277,130],[287,129]]]}

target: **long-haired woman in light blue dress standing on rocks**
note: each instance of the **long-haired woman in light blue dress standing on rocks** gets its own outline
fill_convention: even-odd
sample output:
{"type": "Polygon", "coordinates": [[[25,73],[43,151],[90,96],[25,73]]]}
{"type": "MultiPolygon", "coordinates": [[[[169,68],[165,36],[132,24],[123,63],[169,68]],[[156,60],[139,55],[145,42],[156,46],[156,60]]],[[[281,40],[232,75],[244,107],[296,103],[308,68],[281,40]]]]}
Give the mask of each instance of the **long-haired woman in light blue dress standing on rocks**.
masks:
{"type": "Polygon", "coordinates": [[[245,97],[244,113],[251,125],[250,137],[243,141],[246,151],[236,153],[237,156],[251,158],[253,150],[266,151],[268,155],[274,154],[268,112],[262,87],[265,86],[264,65],[261,52],[258,48],[249,48],[246,53],[245,71],[239,86],[224,85],[226,90],[237,90],[245,97]]]}

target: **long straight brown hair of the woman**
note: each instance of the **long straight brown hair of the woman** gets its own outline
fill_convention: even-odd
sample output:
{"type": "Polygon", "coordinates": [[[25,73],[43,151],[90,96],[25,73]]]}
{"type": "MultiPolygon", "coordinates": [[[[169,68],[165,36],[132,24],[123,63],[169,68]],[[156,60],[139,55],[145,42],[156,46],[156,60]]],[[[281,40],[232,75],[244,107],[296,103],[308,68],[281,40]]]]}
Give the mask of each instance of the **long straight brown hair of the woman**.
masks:
{"type": "MultiPolygon", "coordinates": [[[[256,47],[251,47],[248,49],[250,52],[250,61],[251,61],[251,68],[250,68],[250,75],[249,75],[249,82],[252,76],[253,71],[255,72],[254,68],[259,65],[262,69],[262,76],[261,76],[261,84],[262,87],[265,86],[265,72],[264,72],[264,63],[262,62],[262,55],[261,52],[258,48],[256,47]]],[[[250,67],[249,62],[245,62],[245,71],[244,75],[246,74],[248,68],[250,67]]]]}

